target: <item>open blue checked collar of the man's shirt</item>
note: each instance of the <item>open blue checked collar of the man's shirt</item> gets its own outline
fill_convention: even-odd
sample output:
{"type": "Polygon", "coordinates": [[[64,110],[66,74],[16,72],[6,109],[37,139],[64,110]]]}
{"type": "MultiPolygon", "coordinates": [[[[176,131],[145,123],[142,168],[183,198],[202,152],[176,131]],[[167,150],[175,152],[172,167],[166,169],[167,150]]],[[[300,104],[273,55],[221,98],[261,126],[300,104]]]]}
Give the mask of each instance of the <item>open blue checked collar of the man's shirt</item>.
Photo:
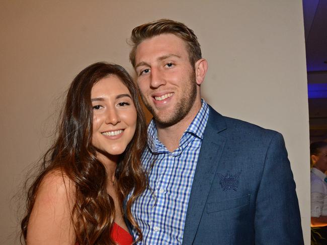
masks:
{"type": "MultiPolygon", "coordinates": [[[[207,124],[207,120],[209,117],[209,106],[203,98],[201,99],[201,103],[202,106],[199,112],[196,114],[196,116],[192,120],[190,126],[187,128],[185,133],[190,133],[202,140],[205,126],[207,124]]],[[[147,128],[147,134],[148,134],[148,140],[147,140],[148,147],[152,152],[157,152],[156,146],[158,146],[160,142],[157,138],[157,129],[155,125],[155,120],[153,118],[150,121],[150,124],[147,128]]]]}

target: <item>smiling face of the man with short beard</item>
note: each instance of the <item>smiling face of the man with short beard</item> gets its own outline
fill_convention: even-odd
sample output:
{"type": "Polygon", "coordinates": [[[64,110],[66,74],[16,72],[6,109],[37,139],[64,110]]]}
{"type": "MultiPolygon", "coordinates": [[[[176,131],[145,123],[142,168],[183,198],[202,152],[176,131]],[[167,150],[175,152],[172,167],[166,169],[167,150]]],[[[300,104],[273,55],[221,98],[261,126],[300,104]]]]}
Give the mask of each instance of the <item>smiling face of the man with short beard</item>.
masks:
{"type": "Polygon", "coordinates": [[[141,42],[135,55],[142,100],[157,124],[169,127],[185,118],[198,95],[185,42],[161,34],[141,42]]]}

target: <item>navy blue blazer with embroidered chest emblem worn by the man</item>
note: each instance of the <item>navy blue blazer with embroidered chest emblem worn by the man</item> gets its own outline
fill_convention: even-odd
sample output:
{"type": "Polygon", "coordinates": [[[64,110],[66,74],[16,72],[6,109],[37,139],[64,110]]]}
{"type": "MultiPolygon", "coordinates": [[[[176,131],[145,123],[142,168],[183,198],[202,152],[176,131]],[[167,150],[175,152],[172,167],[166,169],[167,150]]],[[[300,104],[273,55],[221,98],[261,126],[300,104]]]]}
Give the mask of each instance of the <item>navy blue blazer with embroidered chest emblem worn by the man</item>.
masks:
{"type": "Polygon", "coordinates": [[[304,244],[281,134],[210,107],[183,244],[304,244]]]}

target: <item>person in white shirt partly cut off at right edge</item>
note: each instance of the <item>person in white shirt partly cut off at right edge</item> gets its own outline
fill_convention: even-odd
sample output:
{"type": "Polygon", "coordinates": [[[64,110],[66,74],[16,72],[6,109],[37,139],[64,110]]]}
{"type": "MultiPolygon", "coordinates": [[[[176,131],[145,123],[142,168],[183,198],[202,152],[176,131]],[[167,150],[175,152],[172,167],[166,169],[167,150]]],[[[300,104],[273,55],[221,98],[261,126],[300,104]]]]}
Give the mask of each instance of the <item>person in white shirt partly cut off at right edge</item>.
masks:
{"type": "Polygon", "coordinates": [[[311,244],[327,244],[327,142],[310,145],[311,244]]]}

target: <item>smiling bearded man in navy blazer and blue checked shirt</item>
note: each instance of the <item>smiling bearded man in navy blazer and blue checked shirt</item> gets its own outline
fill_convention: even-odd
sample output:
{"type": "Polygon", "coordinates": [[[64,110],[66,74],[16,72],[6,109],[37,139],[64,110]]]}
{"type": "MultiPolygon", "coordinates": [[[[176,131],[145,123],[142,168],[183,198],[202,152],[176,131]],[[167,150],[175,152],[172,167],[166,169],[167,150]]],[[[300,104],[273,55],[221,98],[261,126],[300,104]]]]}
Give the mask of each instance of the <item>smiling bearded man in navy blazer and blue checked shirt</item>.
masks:
{"type": "Polygon", "coordinates": [[[132,31],[130,61],[153,114],[132,207],[139,244],[303,244],[283,137],[201,99],[207,61],[193,31],[158,20],[132,31]]]}

